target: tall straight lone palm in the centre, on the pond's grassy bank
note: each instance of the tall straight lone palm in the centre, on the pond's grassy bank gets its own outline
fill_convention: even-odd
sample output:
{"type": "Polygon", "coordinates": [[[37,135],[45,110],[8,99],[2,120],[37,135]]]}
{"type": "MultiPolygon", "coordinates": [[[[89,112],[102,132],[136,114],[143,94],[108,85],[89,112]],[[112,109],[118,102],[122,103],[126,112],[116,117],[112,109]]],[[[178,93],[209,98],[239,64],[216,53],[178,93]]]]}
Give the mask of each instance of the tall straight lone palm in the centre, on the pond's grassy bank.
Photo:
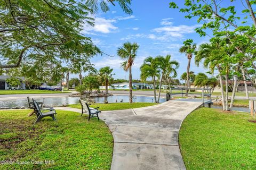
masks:
{"type": "Polygon", "coordinates": [[[132,65],[135,57],[137,56],[137,50],[139,45],[137,43],[131,44],[130,42],[124,43],[123,47],[117,49],[117,55],[125,60],[121,67],[124,71],[129,71],[129,91],[130,91],[130,103],[132,103],[132,65]]]}

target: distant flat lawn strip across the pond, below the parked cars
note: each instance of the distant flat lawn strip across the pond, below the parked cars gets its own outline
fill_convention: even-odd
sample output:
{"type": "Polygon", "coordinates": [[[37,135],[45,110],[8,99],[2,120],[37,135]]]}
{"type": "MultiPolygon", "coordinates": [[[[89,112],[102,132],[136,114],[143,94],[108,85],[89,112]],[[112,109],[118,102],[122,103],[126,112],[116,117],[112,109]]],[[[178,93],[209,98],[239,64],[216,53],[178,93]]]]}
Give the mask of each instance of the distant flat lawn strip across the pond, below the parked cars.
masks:
{"type": "MultiPolygon", "coordinates": [[[[68,93],[69,91],[63,91],[68,93]]],[[[14,95],[14,94],[61,94],[61,91],[49,90],[0,90],[0,95],[14,95]]]]}

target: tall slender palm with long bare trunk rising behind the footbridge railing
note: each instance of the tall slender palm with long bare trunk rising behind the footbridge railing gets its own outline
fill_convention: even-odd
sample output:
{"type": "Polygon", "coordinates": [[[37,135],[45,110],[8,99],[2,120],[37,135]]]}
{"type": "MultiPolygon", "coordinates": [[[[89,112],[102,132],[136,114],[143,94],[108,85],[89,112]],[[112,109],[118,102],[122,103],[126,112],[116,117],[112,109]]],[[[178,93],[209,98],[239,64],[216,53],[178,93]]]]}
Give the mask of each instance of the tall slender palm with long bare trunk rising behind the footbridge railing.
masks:
{"type": "MultiPolygon", "coordinates": [[[[190,70],[190,62],[191,58],[193,56],[193,53],[196,50],[196,44],[193,44],[193,40],[186,40],[184,41],[184,46],[180,47],[179,52],[180,53],[185,53],[187,58],[188,58],[188,66],[187,66],[187,88],[189,88],[189,70],[190,70]]],[[[187,90],[188,92],[188,90],[187,90]]]]}

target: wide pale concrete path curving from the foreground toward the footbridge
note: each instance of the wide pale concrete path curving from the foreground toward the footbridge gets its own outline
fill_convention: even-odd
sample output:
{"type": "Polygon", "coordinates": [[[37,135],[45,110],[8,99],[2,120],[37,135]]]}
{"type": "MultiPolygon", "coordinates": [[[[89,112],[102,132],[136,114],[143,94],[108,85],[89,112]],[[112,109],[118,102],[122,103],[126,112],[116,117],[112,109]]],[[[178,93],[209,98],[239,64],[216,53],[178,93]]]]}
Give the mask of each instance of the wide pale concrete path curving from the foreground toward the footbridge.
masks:
{"type": "Polygon", "coordinates": [[[100,118],[114,137],[111,169],[186,169],[178,133],[182,121],[201,104],[171,100],[155,106],[103,112],[100,118]]]}

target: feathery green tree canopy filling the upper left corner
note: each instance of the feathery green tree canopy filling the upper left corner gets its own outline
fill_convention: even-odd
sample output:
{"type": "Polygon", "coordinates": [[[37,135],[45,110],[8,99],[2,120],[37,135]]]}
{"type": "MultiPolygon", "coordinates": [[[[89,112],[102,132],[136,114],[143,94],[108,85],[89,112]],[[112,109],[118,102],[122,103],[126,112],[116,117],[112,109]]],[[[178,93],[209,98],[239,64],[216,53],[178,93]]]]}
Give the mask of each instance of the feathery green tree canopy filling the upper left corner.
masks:
{"type": "Polygon", "coordinates": [[[83,24],[93,25],[85,1],[3,1],[0,3],[0,67],[27,61],[63,62],[100,54],[83,24]]]}

